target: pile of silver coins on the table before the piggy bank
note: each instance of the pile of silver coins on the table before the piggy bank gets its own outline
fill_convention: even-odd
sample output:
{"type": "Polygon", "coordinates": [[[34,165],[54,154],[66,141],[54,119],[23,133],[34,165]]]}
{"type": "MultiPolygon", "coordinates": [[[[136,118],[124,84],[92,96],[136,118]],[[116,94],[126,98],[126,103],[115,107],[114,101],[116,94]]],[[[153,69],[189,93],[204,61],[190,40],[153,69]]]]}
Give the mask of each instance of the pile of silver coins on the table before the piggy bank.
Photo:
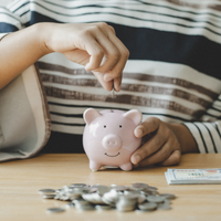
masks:
{"type": "MultiPolygon", "coordinates": [[[[119,212],[148,212],[154,210],[169,210],[175,194],[159,193],[156,187],[146,183],[131,186],[110,185],[87,186],[73,183],[62,189],[41,189],[39,193],[43,199],[69,201],[65,208],[75,208],[80,211],[87,210],[117,210],[119,212]]],[[[50,208],[48,213],[63,212],[65,208],[50,208]]]]}

